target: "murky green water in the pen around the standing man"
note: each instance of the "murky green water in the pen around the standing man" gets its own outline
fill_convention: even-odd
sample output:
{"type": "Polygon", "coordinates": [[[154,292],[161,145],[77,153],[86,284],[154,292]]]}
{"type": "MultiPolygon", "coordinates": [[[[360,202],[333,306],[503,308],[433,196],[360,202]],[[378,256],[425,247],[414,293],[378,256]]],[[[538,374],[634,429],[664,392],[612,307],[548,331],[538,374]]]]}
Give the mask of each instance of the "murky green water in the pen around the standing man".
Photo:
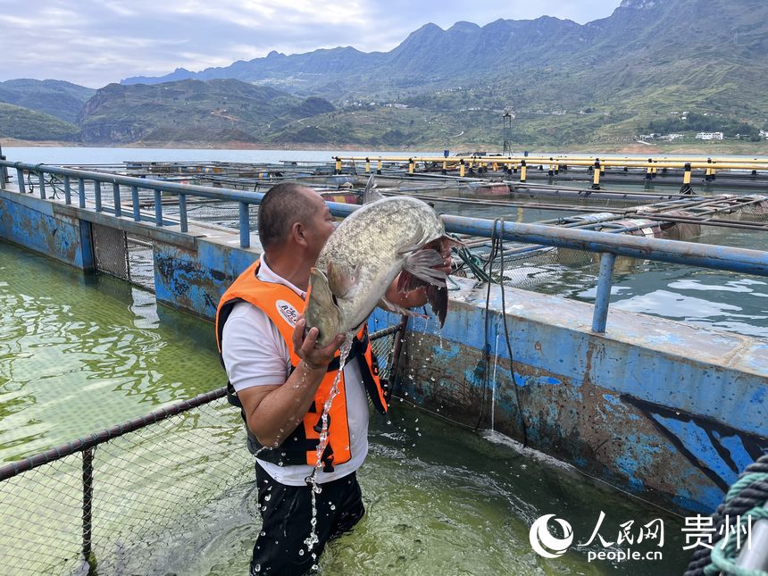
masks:
{"type": "MultiPolygon", "coordinates": [[[[38,453],[223,383],[213,326],[154,305],[146,292],[109,277],[83,276],[2,242],[0,279],[0,461],[38,453]]],[[[242,431],[226,406],[209,412],[230,414],[197,435],[198,444],[220,442],[216,463],[187,458],[185,448],[174,443],[182,431],[210,422],[205,418],[190,414],[169,424],[163,429],[167,442],[159,442],[171,456],[167,476],[187,483],[207,480],[205,489],[186,497],[183,513],[179,505],[181,517],[167,526],[159,525],[160,519],[173,514],[154,512],[154,522],[155,516],[142,516],[141,522],[149,522],[140,524],[145,541],[109,543],[119,562],[102,563],[99,573],[246,573],[260,530],[250,473],[237,482],[212,480],[213,468],[222,462],[237,460],[235,468],[244,462],[242,431]]],[[[138,442],[127,457],[112,444],[96,454],[106,451],[103,457],[113,470],[122,460],[139,463],[142,450],[149,449],[148,442],[138,442]]],[[[118,484],[104,478],[106,470],[96,467],[97,487],[118,484]]],[[[682,572],[689,558],[681,549],[681,518],[405,402],[396,401],[387,418],[371,422],[371,455],[359,477],[368,512],[353,533],[328,547],[321,559],[323,574],[666,574],[682,572]],[[576,545],[589,539],[601,510],[606,517],[600,534],[611,541],[623,522],[633,521],[632,532],[637,532],[639,525],[661,518],[663,547],[647,547],[648,542],[621,547],[658,549],[663,559],[589,563],[589,550],[604,549],[599,541],[576,545]],[[575,535],[572,547],[555,559],[538,556],[529,542],[531,523],[547,513],[570,522],[575,535]]],[[[73,505],[78,478],[73,466],[73,505]]],[[[149,475],[138,474],[138,479],[150,497],[153,489],[160,490],[149,475]]],[[[50,499],[14,486],[29,498],[20,508],[50,499]]],[[[0,494],[3,489],[0,485],[0,494]]],[[[99,495],[104,498],[103,488],[99,495]]],[[[129,504],[115,506],[110,522],[134,522],[138,513],[130,512],[129,504]]],[[[142,501],[139,507],[152,512],[152,504],[142,501]]],[[[19,516],[9,508],[12,518],[19,516]]],[[[96,499],[95,510],[103,509],[96,499]]],[[[0,505],[0,513],[4,510],[0,505]]],[[[77,522],[79,509],[71,513],[77,522]]],[[[104,524],[96,529],[102,535],[106,531],[104,524]]],[[[75,541],[78,530],[75,523],[75,541]]],[[[0,543],[7,545],[8,534],[0,543]]]]}

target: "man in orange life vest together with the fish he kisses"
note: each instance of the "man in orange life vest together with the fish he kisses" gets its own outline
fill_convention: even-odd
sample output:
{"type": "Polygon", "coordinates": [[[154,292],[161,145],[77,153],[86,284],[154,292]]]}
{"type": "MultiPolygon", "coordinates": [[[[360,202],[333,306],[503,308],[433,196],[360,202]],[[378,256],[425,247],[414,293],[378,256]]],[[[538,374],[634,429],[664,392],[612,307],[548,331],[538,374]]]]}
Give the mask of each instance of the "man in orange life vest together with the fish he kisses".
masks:
{"type": "Polygon", "coordinates": [[[258,219],[263,255],[221,297],[217,344],[256,456],[263,527],[251,573],[304,574],[364,513],[355,471],[367,397],[387,410],[368,316],[429,301],[442,323],[455,242],[428,205],[382,198],[372,178],[335,231],[321,196],[295,183],[271,188],[258,219]]]}

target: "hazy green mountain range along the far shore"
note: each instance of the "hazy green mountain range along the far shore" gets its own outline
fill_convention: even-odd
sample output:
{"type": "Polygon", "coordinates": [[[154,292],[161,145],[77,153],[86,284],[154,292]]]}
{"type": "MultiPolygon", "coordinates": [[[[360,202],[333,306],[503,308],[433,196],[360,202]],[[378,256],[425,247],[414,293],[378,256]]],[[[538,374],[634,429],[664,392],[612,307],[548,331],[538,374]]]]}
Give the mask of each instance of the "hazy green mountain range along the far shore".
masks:
{"type": "Polygon", "coordinates": [[[0,136],[13,136],[8,119],[34,124],[20,106],[98,144],[441,147],[462,134],[500,145],[503,111],[514,114],[513,141],[531,146],[632,139],[689,111],[713,130],[747,124],[756,134],[768,125],[766,56],[764,0],[623,0],[583,25],[548,16],[427,24],[386,53],[271,52],[96,93],[9,80],[0,102],[15,108],[0,107],[0,136]]]}

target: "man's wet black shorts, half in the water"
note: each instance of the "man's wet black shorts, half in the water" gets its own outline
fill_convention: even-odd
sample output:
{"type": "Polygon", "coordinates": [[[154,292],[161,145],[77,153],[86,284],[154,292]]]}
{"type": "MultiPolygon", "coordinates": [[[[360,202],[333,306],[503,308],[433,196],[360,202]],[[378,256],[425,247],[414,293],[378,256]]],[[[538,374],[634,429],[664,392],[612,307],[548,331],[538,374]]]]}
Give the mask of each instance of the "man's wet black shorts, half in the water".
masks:
{"type": "Polygon", "coordinates": [[[326,542],[352,530],[365,513],[354,472],[321,484],[316,495],[319,542],[309,551],[305,540],[312,528],[311,488],[280,484],[258,463],[256,482],[263,526],[254,546],[251,574],[305,574],[316,563],[312,554],[319,559],[326,542]]]}

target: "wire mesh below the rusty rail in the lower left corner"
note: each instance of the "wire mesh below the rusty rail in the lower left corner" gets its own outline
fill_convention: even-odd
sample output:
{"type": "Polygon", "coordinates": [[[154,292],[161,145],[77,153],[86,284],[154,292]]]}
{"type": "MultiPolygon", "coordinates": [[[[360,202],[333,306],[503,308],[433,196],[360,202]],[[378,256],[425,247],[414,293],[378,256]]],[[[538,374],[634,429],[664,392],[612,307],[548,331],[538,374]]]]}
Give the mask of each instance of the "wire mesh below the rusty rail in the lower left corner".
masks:
{"type": "Polygon", "coordinates": [[[179,534],[203,533],[205,511],[254,478],[224,398],[112,438],[94,453],[85,558],[82,463],[76,453],[0,482],[4,573],[164,573],[179,534]]]}

